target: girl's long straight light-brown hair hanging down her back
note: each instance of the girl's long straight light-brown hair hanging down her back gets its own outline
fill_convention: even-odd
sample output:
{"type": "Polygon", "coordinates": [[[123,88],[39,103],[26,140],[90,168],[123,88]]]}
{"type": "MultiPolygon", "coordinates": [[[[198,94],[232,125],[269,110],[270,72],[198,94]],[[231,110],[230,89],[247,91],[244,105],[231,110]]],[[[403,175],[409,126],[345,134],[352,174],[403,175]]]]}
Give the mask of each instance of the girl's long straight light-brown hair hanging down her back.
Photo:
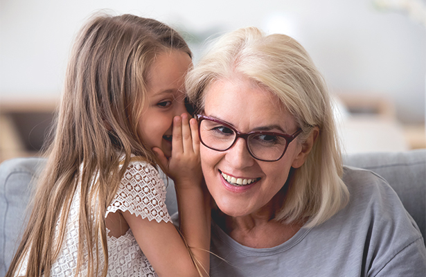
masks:
{"type": "Polygon", "coordinates": [[[17,272],[24,257],[28,257],[27,276],[51,275],[76,192],[81,199],[76,274],[87,263],[88,276],[106,276],[106,209],[131,154],[155,163],[137,126],[150,66],[156,55],[171,50],[192,56],[175,30],[154,19],[96,15],[80,30],[66,71],[54,138],[46,151],[48,161],[37,184],[34,208],[6,276],[17,272]],[[123,154],[125,161],[119,170],[123,154]],[[87,260],[83,261],[85,254],[87,260]],[[105,257],[103,268],[100,255],[105,257]]]}

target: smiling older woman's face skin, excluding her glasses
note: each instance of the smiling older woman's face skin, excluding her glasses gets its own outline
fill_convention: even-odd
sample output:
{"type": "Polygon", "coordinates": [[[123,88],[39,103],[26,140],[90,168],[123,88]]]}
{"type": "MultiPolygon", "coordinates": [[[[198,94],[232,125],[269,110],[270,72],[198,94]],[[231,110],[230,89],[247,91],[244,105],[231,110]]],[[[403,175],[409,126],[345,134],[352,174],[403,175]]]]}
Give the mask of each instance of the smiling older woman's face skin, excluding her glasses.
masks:
{"type": "MultiPolygon", "coordinates": [[[[245,79],[218,80],[206,91],[204,114],[218,118],[239,132],[269,131],[293,134],[294,118],[276,96],[245,79]]],[[[303,164],[302,145],[296,139],[278,161],[258,161],[240,138],[224,152],[200,148],[206,185],[222,212],[232,217],[273,213],[283,198],[290,168],[303,164]],[[242,179],[243,186],[227,181],[242,179]],[[254,182],[253,182],[254,181],[254,182]],[[251,184],[250,184],[251,183],[251,184]],[[277,197],[274,197],[277,196],[277,197]]],[[[236,182],[236,181],[234,181],[236,182]]]]}

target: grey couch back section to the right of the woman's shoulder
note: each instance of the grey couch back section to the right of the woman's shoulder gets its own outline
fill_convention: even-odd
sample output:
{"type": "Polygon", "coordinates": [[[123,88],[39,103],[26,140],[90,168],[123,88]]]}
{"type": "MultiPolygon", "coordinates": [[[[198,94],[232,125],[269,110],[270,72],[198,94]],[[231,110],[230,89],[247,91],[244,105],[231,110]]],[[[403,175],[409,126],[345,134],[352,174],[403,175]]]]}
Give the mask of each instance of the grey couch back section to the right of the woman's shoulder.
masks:
{"type": "MultiPolygon", "coordinates": [[[[371,170],[386,179],[414,218],[425,240],[426,150],[350,154],[344,164],[371,170]]],[[[426,244],[426,240],[425,240],[426,244]]]]}

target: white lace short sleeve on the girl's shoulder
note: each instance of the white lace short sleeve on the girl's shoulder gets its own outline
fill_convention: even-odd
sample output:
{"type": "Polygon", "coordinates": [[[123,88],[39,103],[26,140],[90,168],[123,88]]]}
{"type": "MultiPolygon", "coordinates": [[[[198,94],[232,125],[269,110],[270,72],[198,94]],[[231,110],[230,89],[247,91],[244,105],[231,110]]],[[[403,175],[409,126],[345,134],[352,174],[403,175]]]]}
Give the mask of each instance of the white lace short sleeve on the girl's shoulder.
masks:
{"type": "Polygon", "coordinates": [[[120,210],[150,221],[172,222],[165,200],[166,186],[159,172],[145,161],[131,161],[105,217],[120,210]]]}

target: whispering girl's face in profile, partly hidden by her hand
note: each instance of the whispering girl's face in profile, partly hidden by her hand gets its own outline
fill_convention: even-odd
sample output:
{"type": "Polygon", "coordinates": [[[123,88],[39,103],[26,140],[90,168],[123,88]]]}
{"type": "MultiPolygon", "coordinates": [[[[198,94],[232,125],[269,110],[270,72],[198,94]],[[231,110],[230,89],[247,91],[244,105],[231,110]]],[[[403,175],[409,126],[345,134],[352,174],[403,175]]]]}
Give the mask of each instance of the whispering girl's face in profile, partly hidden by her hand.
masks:
{"type": "Polygon", "coordinates": [[[184,77],[192,60],[184,51],[166,51],[157,55],[148,77],[148,97],[139,118],[139,134],[149,148],[160,148],[172,155],[173,117],[186,112],[184,77]]]}

